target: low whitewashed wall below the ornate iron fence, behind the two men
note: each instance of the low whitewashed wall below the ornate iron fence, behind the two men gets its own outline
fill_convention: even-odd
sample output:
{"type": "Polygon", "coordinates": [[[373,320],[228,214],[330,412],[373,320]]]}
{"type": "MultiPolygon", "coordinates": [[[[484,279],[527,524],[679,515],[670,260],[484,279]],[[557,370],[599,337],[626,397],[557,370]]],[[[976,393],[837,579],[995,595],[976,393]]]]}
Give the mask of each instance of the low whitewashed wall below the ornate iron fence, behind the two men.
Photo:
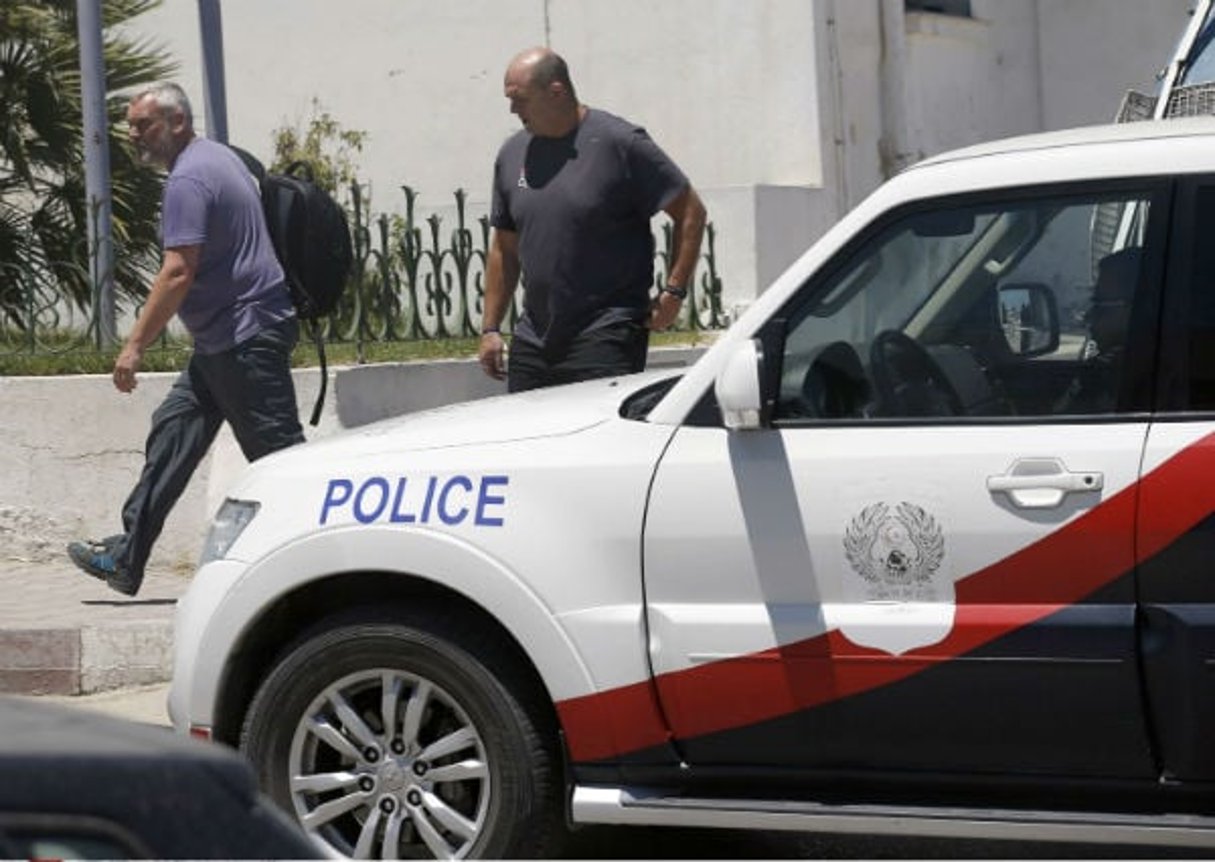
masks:
{"type": "MultiPolygon", "coordinates": [[[[680,367],[702,349],[656,349],[649,367],[680,367]]],[[[380,364],[329,370],[329,396],[309,439],[390,416],[496,395],[504,384],[475,360],[380,364]]],[[[175,373],[140,374],[119,395],[107,374],[0,377],[0,565],[62,559],[68,541],[122,531],[122,506],[143,464],[152,411],[175,373]]],[[[294,372],[301,421],[320,371],[294,372]]],[[[152,565],[190,569],[227,488],[244,468],[227,426],[169,515],[152,565]]]]}

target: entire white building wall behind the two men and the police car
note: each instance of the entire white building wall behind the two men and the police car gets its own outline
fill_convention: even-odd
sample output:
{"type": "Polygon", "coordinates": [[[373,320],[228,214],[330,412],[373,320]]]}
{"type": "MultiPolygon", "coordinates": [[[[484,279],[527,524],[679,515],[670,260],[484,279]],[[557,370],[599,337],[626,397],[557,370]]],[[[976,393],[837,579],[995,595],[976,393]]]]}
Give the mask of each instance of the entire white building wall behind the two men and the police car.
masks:
{"type": "MultiPolygon", "coordinates": [[[[902,0],[228,0],[228,129],[267,156],[311,102],[368,133],[373,209],[487,205],[518,123],[502,75],[550,44],[589,105],[645,125],[719,230],[725,304],[745,303],[899,167],[1004,135],[1112,117],[1149,88],[1189,0],[973,0],[972,19],[902,0]]],[[[181,61],[202,111],[196,0],[137,32],[181,61]]],[[[202,118],[199,118],[202,120],[202,118]]]]}

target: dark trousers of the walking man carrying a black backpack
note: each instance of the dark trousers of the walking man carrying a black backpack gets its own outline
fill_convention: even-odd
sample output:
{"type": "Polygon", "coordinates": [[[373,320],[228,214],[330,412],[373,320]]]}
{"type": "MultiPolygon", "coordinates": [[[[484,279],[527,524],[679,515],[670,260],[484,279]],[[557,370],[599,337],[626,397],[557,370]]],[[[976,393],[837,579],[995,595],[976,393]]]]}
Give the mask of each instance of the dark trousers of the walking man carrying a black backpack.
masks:
{"type": "Polygon", "coordinates": [[[292,319],[231,350],[196,353],[152,415],[143,473],[123,506],[125,534],[111,542],[114,562],[136,584],[169,511],[225,419],[249,461],[304,441],[290,373],[298,338],[292,319]]]}

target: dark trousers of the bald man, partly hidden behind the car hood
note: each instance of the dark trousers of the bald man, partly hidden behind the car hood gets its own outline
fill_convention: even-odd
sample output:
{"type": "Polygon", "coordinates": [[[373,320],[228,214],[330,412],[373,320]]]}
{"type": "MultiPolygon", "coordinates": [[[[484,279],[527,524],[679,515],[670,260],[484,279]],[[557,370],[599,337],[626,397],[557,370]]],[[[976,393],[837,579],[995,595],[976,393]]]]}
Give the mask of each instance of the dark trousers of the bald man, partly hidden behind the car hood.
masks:
{"type": "Polygon", "coordinates": [[[556,354],[512,338],[507,390],[525,391],[644,371],[649,347],[650,329],[631,321],[578,333],[556,354]]]}

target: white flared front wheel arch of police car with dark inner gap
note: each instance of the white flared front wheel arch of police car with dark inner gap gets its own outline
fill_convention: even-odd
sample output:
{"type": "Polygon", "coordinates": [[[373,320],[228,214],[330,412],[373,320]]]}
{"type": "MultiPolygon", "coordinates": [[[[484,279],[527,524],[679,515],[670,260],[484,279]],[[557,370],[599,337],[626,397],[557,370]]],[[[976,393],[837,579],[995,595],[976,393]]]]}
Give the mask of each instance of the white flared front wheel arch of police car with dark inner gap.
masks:
{"type": "Polygon", "coordinates": [[[535,700],[544,705],[546,723],[554,728],[556,700],[592,691],[586,664],[552,610],[479,550],[451,536],[419,533],[406,541],[400,531],[385,536],[390,531],[364,528],[358,540],[362,565],[355,567],[349,564],[345,533],[313,535],[258,563],[228,592],[222,613],[213,616],[198,649],[222,660],[207,663],[215,677],[196,678],[196,693],[213,687],[216,739],[237,744],[258,686],[286,649],[360,608],[383,618],[394,604],[426,603],[498,632],[533,682],[535,700]],[[338,559],[349,568],[338,567],[338,559]],[[402,560],[411,562],[411,570],[401,568],[402,560]]]}

